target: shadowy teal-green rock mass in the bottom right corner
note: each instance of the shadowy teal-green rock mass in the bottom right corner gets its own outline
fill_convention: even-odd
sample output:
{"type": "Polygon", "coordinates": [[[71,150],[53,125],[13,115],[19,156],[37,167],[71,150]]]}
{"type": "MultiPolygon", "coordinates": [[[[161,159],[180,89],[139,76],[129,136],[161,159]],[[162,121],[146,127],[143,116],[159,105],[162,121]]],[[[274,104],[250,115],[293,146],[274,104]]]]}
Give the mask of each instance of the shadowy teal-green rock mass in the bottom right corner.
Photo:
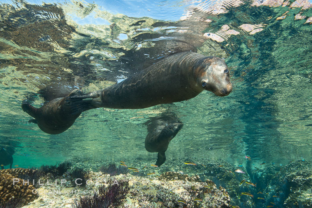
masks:
{"type": "Polygon", "coordinates": [[[312,207],[312,163],[295,160],[285,166],[271,165],[255,174],[265,187],[267,201],[285,208],[312,207]]]}

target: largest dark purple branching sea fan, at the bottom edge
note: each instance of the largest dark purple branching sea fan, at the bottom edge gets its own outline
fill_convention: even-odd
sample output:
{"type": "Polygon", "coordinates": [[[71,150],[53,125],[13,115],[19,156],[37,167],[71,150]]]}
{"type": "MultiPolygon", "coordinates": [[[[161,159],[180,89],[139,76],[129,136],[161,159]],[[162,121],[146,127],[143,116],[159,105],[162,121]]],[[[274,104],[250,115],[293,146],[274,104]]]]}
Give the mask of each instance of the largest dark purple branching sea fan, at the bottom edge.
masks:
{"type": "Polygon", "coordinates": [[[110,179],[108,186],[100,186],[93,196],[75,199],[72,208],[114,208],[122,204],[130,190],[128,181],[110,179]]]}

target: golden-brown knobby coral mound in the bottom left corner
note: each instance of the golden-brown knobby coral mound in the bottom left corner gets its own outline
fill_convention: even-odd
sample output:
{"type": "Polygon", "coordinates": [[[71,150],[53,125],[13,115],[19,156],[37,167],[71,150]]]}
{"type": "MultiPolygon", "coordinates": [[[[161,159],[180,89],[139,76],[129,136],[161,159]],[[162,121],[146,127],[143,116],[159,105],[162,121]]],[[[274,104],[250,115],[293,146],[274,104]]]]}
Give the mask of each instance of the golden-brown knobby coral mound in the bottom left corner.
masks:
{"type": "MultiPolygon", "coordinates": [[[[8,170],[7,172],[14,173],[12,169],[5,170],[8,170]]],[[[30,201],[34,201],[37,196],[37,192],[32,191],[34,189],[35,187],[33,185],[28,185],[27,181],[16,178],[15,176],[12,176],[8,173],[0,173],[0,204],[4,204],[15,197],[20,197],[25,200],[25,204],[29,203],[30,201]],[[15,178],[14,185],[13,178],[15,178]]]]}

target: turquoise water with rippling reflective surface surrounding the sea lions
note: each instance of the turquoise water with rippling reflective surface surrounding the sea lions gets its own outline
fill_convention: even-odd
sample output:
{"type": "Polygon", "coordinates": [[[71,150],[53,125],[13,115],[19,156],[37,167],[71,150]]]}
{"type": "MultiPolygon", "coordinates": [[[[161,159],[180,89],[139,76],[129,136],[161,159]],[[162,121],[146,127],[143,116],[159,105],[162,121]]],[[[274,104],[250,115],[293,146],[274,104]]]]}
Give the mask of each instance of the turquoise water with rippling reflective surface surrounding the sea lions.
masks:
{"type": "Polygon", "coordinates": [[[308,1],[2,2],[0,145],[14,149],[13,165],[22,168],[71,158],[144,163],[157,155],[144,148],[144,123],[170,111],[184,125],[167,158],[245,166],[249,155],[258,167],[311,160],[311,8],[308,1]],[[91,92],[188,50],[224,58],[233,92],[93,109],[59,135],[22,111],[26,98],[40,107],[74,88],[91,92]]]}

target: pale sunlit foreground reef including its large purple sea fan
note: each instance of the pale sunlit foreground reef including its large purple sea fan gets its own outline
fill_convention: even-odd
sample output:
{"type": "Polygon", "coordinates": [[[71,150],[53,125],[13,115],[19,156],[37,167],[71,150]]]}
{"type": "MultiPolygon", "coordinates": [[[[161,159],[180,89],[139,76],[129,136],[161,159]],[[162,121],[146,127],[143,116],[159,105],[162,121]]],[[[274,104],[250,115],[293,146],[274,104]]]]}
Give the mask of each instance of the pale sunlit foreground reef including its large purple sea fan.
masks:
{"type": "MultiPolygon", "coordinates": [[[[230,196],[226,190],[222,187],[217,188],[214,185],[204,187],[204,185],[207,185],[206,182],[190,182],[185,180],[164,181],[158,180],[153,175],[137,177],[130,174],[120,174],[114,177],[119,183],[118,187],[117,184],[114,185],[110,182],[112,181],[112,177],[108,174],[92,171],[90,174],[91,177],[86,186],[68,187],[66,184],[61,185],[59,182],[57,184],[42,185],[38,188],[39,198],[24,208],[42,206],[46,208],[94,207],[90,205],[93,202],[99,205],[97,207],[110,208],[164,208],[169,206],[180,208],[230,207],[230,196]],[[107,183],[111,185],[103,186],[107,183]],[[62,194],[53,194],[58,190],[61,190],[62,194]],[[129,193],[126,194],[128,191],[129,193]],[[114,200],[112,199],[116,198],[116,196],[120,197],[117,197],[115,202],[113,202],[114,200]],[[125,199],[123,200],[124,197],[125,199]],[[198,199],[202,201],[197,201],[198,199]],[[120,204],[119,202],[124,203],[120,204]]],[[[57,177],[56,180],[60,181],[61,178],[57,177]]]]}

